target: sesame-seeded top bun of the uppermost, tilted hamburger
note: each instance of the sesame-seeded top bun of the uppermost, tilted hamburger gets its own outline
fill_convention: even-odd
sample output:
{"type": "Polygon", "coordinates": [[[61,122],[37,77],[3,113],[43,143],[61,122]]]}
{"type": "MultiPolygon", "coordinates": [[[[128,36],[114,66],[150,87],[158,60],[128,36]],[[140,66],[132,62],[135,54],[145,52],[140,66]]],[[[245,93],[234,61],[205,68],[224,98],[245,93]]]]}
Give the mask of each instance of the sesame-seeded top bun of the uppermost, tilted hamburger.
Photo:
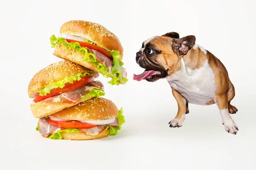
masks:
{"type": "Polygon", "coordinates": [[[120,52],[120,60],[122,60],[123,48],[121,42],[104,26],[83,20],[72,20],[61,26],[60,33],[66,33],[77,37],[82,37],[98,45],[106,50],[115,50],[120,52]]]}

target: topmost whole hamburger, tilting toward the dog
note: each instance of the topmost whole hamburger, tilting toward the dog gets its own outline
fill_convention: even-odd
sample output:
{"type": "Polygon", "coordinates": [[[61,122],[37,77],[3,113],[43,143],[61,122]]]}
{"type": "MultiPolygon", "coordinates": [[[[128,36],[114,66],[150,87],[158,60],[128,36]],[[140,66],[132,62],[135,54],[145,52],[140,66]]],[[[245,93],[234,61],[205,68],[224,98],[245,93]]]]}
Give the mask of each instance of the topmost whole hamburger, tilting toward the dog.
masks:
{"type": "Polygon", "coordinates": [[[123,48],[111,31],[97,23],[72,20],[61,26],[60,33],[50,37],[55,56],[112,77],[111,85],[127,82],[123,48]]]}

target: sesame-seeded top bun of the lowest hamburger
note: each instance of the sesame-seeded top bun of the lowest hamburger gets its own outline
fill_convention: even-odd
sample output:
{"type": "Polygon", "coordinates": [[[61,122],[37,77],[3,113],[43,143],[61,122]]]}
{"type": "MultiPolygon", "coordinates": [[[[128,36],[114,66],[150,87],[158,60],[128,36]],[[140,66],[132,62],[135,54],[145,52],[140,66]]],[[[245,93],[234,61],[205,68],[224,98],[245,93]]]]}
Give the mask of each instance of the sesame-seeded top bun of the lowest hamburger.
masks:
{"type": "Polygon", "coordinates": [[[111,100],[99,97],[65,108],[51,116],[66,120],[101,120],[116,117],[117,114],[118,109],[111,100]]]}

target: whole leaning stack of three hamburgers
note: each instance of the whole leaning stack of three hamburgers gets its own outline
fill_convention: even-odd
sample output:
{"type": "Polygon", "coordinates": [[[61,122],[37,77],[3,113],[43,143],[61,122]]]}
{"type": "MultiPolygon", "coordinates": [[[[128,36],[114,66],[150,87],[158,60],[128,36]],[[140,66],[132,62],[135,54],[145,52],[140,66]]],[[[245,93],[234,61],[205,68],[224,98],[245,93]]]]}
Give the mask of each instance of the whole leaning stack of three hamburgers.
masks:
{"type": "Polygon", "coordinates": [[[111,85],[125,84],[122,45],[105,27],[82,20],[64,23],[60,35],[52,35],[54,55],[64,59],[38,71],[28,94],[36,130],[50,139],[87,140],[116,135],[125,122],[95,79],[110,77],[111,85]]]}

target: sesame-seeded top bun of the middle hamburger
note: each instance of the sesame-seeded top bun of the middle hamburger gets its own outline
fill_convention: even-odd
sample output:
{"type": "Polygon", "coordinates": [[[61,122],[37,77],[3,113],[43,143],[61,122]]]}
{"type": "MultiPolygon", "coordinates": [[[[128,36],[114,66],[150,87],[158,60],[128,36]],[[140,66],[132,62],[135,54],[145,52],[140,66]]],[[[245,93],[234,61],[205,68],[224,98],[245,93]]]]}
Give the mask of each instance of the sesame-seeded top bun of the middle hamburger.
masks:
{"type": "Polygon", "coordinates": [[[38,71],[30,80],[28,87],[29,97],[33,98],[33,93],[43,89],[44,85],[48,85],[50,82],[58,82],[66,77],[71,77],[84,72],[94,73],[94,71],[85,68],[84,66],[66,60],[55,62],[38,71]]]}

